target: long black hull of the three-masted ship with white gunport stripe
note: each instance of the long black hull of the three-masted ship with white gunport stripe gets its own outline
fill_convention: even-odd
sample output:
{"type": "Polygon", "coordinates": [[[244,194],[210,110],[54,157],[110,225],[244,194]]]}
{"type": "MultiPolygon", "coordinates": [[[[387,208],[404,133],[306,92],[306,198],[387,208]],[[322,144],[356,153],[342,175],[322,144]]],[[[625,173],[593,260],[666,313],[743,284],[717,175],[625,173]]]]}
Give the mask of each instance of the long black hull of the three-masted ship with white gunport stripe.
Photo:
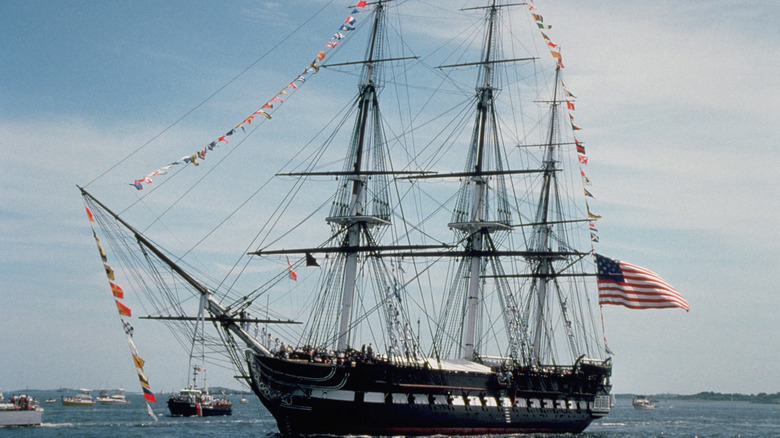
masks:
{"type": "Polygon", "coordinates": [[[578,433],[609,412],[609,365],[570,372],[347,366],[249,353],[252,387],[287,435],[578,433]]]}

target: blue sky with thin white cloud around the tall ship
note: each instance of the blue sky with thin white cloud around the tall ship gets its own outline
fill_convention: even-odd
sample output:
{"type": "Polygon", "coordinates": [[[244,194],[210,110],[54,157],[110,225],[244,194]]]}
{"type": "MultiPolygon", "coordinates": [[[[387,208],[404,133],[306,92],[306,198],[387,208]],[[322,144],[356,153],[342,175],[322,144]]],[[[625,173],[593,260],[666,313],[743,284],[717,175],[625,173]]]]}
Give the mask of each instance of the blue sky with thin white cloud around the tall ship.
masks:
{"type": "MultiPolygon", "coordinates": [[[[408,18],[424,23],[441,4],[408,18]]],[[[691,306],[604,308],[614,390],[780,391],[780,4],[535,4],[578,98],[597,251],[651,268],[691,306]]],[[[347,6],[0,2],[0,388],[140,390],[76,186],[138,196],[128,181],[284,87],[347,6]]],[[[327,108],[330,90],[307,87],[327,108]]],[[[268,124],[269,159],[303,140],[295,123],[308,120],[286,115],[268,124]]],[[[220,207],[199,198],[204,216],[220,207]]],[[[186,353],[143,327],[153,389],[180,388],[186,353]]]]}

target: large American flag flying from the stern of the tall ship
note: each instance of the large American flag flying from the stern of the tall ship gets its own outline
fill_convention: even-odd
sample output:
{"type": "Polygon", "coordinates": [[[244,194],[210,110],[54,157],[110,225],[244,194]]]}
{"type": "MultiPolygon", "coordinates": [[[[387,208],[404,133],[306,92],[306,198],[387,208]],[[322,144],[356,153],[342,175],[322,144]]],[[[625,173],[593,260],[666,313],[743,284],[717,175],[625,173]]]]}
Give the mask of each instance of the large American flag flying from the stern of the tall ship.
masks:
{"type": "Polygon", "coordinates": [[[649,269],[596,254],[599,304],[614,304],[630,309],[680,307],[687,312],[688,302],[675,288],[649,269]]]}

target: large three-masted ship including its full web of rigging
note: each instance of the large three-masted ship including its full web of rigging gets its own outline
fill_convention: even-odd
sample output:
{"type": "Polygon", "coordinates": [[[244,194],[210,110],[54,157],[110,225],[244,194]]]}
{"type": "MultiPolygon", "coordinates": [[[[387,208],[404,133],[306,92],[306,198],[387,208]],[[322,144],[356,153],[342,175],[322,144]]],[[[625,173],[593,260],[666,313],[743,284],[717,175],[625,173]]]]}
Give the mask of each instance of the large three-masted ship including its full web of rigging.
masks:
{"type": "MultiPolygon", "coordinates": [[[[202,212],[166,207],[150,218],[81,188],[99,241],[121,254],[106,266],[128,272],[125,291],[147,318],[182,334],[209,322],[205,344],[232,361],[282,434],[582,432],[610,411],[612,363],[560,51],[533,3],[473,2],[453,12],[466,17],[462,42],[418,36],[421,49],[396,41],[405,7],[414,4],[358,2],[273,99],[133,183],[151,188],[147,206],[192,208],[150,183],[216,166],[207,154],[239,151],[241,135],[255,141],[258,120],[294,117],[279,107],[306,87],[357,86],[324,127],[306,121],[290,132],[295,141],[264,138],[260,151],[244,151],[240,164],[278,159],[273,175],[255,172],[224,198],[211,185],[199,192],[230,213],[195,246],[155,231],[202,212]],[[311,140],[296,144],[309,128],[311,140]],[[243,186],[250,200],[225,208],[243,186]],[[241,229],[254,233],[232,259],[215,255],[235,241],[230,220],[247,208],[241,229]],[[230,237],[196,260],[222,227],[230,237]]],[[[179,200],[193,199],[192,186],[179,200]]]]}

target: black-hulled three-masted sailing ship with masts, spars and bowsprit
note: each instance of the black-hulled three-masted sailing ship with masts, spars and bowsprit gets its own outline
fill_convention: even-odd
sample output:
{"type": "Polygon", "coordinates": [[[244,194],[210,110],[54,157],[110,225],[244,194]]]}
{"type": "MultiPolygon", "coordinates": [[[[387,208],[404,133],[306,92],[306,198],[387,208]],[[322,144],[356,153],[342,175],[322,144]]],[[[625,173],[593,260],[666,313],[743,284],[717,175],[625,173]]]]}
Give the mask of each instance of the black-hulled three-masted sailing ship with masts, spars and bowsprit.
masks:
{"type": "MultiPolygon", "coordinates": [[[[469,74],[473,93],[444,133],[419,134],[428,125],[414,127],[416,118],[391,130],[381,104],[386,66],[396,67],[392,81],[400,83],[397,66],[417,61],[387,53],[391,6],[366,6],[363,60],[325,66],[360,67],[341,170],[315,163],[280,172],[336,181],[325,215],[330,234],[315,245],[248,251],[253,260],[284,264],[263,286],[219,291],[225,282],[197,278],[82,189],[86,202],[102,212],[99,222],[130,236],[128,251],[176,278],[156,275],[149,289],[177,289],[176,282],[202,298],[206,320],[283,434],[581,432],[610,410],[611,362],[593,317],[589,212],[577,167],[568,164],[576,155],[562,64],[504,53],[516,40],[503,33],[501,19],[524,5],[491,0],[464,10],[484,18],[479,51],[463,52],[478,58],[433,70],[443,83],[469,74]],[[542,75],[549,85],[528,92],[520,79],[540,64],[550,64],[542,75]],[[525,126],[534,135],[517,127],[518,116],[502,113],[520,105],[537,108],[538,123],[525,126]],[[404,146],[411,132],[426,146],[404,146]],[[406,161],[399,164],[398,155],[406,161]],[[462,167],[448,168],[455,158],[462,167]],[[575,179],[564,176],[572,172],[575,179]],[[261,301],[275,285],[291,281],[288,274],[297,279],[294,269],[312,272],[296,283],[306,288],[299,303],[306,310],[291,312],[305,322],[257,318],[272,311],[261,301]]],[[[329,136],[322,150],[338,138],[329,136]]],[[[181,304],[156,308],[174,315],[159,319],[195,320],[181,304]]]]}

